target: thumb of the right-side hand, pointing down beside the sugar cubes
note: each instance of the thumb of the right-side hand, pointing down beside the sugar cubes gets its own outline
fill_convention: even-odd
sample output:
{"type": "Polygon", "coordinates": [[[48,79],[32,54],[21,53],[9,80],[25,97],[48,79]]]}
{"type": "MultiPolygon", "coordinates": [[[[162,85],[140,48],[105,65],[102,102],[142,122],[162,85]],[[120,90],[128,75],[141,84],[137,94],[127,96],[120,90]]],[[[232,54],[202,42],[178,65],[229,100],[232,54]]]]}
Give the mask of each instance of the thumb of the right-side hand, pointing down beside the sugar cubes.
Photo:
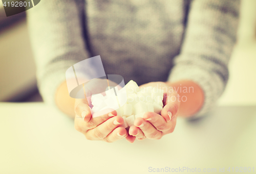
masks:
{"type": "Polygon", "coordinates": [[[175,117],[180,106],[180,95],[177,92],[165,93],[164,96],[164,107],[161,111],[161,115],[164,117],[166,122],[169,122],[172,117],[175,117]]]}

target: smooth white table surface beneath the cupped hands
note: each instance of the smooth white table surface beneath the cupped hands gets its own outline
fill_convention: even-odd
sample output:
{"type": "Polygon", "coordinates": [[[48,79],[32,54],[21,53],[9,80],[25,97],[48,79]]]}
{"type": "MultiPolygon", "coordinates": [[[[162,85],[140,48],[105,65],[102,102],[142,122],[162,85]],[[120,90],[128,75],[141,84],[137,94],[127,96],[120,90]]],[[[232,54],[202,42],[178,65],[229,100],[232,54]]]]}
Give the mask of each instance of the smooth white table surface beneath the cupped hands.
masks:
{"type": "Polygon", "coordinates": [[[0,103],[0,124],[0,173],[152,173],[149,167],[256,172],[256,106],[219,106],[203,119],[178,118],[174,133],[133,144],[86,140],[73,120],[43,103],[0,103]]]}

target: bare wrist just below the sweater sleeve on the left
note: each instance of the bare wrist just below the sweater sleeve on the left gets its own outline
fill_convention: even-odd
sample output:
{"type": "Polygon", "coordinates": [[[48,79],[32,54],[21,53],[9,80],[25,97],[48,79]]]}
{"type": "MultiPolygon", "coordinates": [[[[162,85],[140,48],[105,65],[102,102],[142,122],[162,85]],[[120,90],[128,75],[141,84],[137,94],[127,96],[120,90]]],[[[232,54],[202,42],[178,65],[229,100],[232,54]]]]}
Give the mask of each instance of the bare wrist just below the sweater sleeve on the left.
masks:
{"type": "Polygon", "coordinates": [[[67,87],[66,81],[61,83],[61,85],[56,90],[55,94],[55,103],[57,107],[63,113],[67,114],[68,116],[74,118],[74,105],[75,105],[75,98],[69,96],[69,91],[67,87]]]}

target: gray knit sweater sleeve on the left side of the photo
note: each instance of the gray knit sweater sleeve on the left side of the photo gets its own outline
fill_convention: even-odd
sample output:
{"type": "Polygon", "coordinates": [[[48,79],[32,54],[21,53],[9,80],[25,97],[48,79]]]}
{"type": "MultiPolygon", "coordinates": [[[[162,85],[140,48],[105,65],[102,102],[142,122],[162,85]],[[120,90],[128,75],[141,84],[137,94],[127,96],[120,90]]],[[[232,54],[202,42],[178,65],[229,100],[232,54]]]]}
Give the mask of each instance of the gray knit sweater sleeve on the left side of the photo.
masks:
{"type": "Polygon", "coordinates": [[[41,1],[27,11],[37,81],[44,101],[55,106],[57,87],[66,70],[89,58],[83,39],[84,1],[41,1]]]}

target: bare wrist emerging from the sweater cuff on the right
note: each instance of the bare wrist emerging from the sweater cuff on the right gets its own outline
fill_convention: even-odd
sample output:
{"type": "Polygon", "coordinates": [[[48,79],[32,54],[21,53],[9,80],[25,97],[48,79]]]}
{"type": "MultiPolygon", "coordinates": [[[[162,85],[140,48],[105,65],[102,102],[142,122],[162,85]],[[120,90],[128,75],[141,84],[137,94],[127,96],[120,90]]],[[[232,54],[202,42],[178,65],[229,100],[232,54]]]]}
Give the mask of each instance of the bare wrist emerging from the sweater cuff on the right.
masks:
{"type": "Polygon", "coordinates": [[[179,116],[190,117],[202,108],[204,92],[198,84],[188,80],[175,83],[167,82],[167,84],[180,95],[180,97],[177,98],[177,100],[181,101],[178,111],[179,116]]]}

